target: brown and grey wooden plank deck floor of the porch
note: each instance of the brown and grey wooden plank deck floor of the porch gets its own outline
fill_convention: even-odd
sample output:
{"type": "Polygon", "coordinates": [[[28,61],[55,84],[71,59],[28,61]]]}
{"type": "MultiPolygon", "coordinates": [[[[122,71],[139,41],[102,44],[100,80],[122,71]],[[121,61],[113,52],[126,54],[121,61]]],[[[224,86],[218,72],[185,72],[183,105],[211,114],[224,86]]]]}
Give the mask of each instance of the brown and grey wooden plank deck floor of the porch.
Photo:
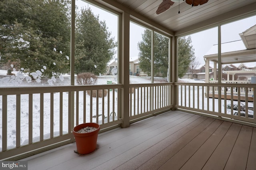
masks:
{"type": "Polygon", "coordinates": [[[99,134],[97,149],[68,144],[23,160],[29,170],[255,170],[256,128],[170,111],[99,134]]]}

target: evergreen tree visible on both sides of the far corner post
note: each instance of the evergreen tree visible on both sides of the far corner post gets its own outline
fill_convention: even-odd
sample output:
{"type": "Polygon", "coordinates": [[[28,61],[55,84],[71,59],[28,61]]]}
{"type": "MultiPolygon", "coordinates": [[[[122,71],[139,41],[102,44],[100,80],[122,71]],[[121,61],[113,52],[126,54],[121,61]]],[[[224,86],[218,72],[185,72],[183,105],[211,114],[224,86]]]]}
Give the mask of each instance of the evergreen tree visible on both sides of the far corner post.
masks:
{"type": "MultiPolygon", "coordinates": [[[[194,59],[194,49],[191,45],[191,37],[178,39],[178,77],[188,70],[190,61],[194,59]]],[[[142,41],[138,43],[140,69],[151,73],[151,31],[145,30],[142,41]]],[[[168,38],[154,33],[154,75],[163,73],[166,77],[168,69],[168,38]]]]}

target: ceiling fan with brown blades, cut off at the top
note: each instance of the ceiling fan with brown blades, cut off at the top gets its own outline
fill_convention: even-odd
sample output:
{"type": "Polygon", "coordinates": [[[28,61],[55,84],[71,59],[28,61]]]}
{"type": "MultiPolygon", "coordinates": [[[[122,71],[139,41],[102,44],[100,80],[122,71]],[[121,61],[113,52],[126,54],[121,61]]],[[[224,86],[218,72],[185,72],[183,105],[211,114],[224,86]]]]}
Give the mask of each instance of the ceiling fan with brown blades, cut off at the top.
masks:
{"type": "MultiPolygon", "coordinates": [[[[161,14],[162,12],[168,10],[170,6],[174,4],[174,2],[180,3],[180,0],[163,0],[163,2],[157,8],[156,14],[161,14]]],[[[208,0],[186,0],[186,3],[192,6],[202,5],[202,4],[205,4],[206,2],[208,2],[208,0]]]]}

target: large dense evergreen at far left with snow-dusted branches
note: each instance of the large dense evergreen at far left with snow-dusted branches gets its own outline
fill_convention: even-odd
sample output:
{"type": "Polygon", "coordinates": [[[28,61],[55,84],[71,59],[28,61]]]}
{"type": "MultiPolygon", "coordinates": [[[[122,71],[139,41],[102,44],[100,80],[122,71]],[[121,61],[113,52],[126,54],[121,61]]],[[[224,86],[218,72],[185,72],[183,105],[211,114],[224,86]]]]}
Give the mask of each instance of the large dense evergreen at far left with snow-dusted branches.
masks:
{"type": "Polygon", "coordinates": [[[69,71],[70,0],[0,1],[0,64],[25,71],[69,71]]]}

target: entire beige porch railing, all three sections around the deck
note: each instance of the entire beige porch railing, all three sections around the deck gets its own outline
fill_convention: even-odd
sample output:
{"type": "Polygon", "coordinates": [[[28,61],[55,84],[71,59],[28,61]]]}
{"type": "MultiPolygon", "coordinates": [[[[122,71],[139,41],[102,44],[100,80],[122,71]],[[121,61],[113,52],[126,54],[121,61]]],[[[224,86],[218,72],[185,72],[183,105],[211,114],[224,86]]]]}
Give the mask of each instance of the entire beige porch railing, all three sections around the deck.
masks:
{"type": "Polygon", "coordinates": [[[28,156],[42,152],[46,147],[74,142],[72,128],[80,123],[96,122],[103,130],[119,127],[124,121],[118,108],[121,104],[129,105],[130,123],[168,111],[174,105],[177,110],[190,113],[256,123],[253,109],[256,99],[253,97],[252,102],[248,99],[252,97],[249,89],[254,96],[256,94],[256,87],[252,84],[130,84],[129,103],[120,103],[118,93],[121,89],[121,84],[0,88],[0,159],[10,160],[19,154],[28,156]],[[211,88],[231,89],[231,95],[227,91],[223,94],[210,91],[211,88]],[[238,89],[237,99],[234,98],[234,89],[238,89]],[[240,89],[245,89],[244,101],[240,89]],[[91,95],[99,96],[102,91],[106,97],[91,95]]]}

